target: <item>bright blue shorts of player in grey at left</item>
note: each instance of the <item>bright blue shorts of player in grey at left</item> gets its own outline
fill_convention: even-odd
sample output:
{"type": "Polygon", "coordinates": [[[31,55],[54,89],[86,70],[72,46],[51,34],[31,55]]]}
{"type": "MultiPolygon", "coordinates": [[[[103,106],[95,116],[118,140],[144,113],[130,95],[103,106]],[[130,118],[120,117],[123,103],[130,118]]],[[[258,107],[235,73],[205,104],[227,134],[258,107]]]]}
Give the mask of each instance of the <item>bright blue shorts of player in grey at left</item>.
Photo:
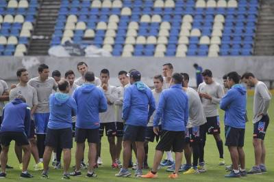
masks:
{"type": "Polygon", "coordinates": [[[47,123],[49,123],[49,113],[34,114],[36,134],[47,134],[47,123]]]}

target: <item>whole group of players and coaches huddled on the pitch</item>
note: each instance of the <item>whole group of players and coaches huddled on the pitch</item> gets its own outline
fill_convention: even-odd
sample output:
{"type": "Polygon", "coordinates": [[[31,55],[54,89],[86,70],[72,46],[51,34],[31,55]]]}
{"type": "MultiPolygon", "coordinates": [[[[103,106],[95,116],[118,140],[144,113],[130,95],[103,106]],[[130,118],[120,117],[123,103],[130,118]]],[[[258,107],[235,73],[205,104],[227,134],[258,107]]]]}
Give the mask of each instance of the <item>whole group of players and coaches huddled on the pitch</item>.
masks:
{"type": "MultiPolygon", "coordinates": [[[[197,68],[198,65],[195,65],[197,68]]],[[[110,72],[103,69],[99,78],[88,71],[84,62],[77,64],[82,75],[75,80],[69,70],[62,78],[58,70],[49,76],[49,67],[41,64],[39,76],[29,79],[25,68],[18,69],[18,84],[9,89],[0,80],[1,113],[1,173],[6,177],[10,142],[15,140],[14,151],[21,168],[21,177],[33,177],[27,168],[31,155],[36,162],[34,170],[42,170],[42,178],[49,177],[49,163],[53,153],[53,166],[61,168],[62,179],[81,176],[82,168],[88,168],[86,177],[97,177],[95,168],[101,160],[101,138],[108,137],[112,168],[121,168],[116,177],[158,177],[160,167],[168,166],[175,179],[179,172],[184,175],[206,172],[204,148],[206,135],[214,136],[219,151],[219,165],[225,165],[223,140],[220,132],[218,106],[225,111],[225,146],[228,147],[232,164],[227,166],[225,177],[245,177],[247,174],[266,172],[264,136],[269,125],[267,110],[271,93],[264,82],[252,73],[239,76],[229,72],[223,76],[223,85],[213,79],[210,70],[201,72],[197,91],[188,87],[186,73],[173,73],[173,65],[162,65],[162,75],[153,77],[151,90],[141,80],[138,70],[118,73],[120,87],[110,85],[110,72]],[[245,85],[243,85],[245,83],[245,85]],[[247,122],[245,86],[255,87],[253,103],[253,147],[255,165],[245,170],[245,126],[247,122]],[[10,101],[10,102],[8,102],[10,101]],[[7,103],[7,104],[5,104],[7,103]],[[3,113],[3,115],[2,115],[3,113]],[[75,137],[75,166],[71,165],[71,149],[75,137]],[[88,164],[84,162],[85,142],[88,142],[88,164]],[[152,169],[149,168],[149,142],[158,142],[152,169]],[[123,147],[122,147],[123,145],[123,147]],[[120,161],[123,149],[123,163],[120,161]],[[22,152],[23,151],[23,152],[22,152]],[[132,164],[132,151],[136,164],[132,164]],[[186,164],[182,164],[182,157],[186,164]],[[162,157],[166,152],[166,159],[162,157]],[[175,160],[173,159],[175,153],[175,160]]],[[[103,154],[105,155],[105,154],[103,154]]]]}

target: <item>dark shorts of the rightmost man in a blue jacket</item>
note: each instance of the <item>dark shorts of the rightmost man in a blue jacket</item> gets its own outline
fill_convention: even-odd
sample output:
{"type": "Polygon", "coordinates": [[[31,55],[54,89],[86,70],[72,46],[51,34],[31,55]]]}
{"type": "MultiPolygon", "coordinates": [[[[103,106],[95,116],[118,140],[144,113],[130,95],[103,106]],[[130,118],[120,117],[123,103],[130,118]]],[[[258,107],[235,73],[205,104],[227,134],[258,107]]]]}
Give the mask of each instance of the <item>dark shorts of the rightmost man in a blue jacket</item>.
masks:
{"type": "Polygon", "coordinates": [[[225,126],[225,146],[244,147],[245,129],[225,126]]]}

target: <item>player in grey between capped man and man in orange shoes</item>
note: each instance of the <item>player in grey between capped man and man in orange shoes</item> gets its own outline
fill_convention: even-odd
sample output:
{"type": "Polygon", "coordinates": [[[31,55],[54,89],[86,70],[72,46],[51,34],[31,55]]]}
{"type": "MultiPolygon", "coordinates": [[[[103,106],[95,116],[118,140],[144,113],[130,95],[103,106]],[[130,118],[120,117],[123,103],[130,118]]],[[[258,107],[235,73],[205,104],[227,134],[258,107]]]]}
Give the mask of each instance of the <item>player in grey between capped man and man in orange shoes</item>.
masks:
{"type": "MultiPolygon", "coordinates": [[[[160,94],[162,93],[162,87],[164,85],[164,78],[161,75],[156,75],[153,77],[153,85],[154,89],[152,90],[152,94],[155,100],[155,106],[157,109],[160,94]]],[[[144,168],[149,168],[149,164],[147,163],[147,157],[149,153],[149,142],[154,142],[154,138],[158,142],[160,136],[154,134],[153,132],[153,118],[155,116],[155,112],[149,119],[149,123],[147,123],[147,130],[145,134],[145,160],[144,160],[144,168]]],[[[161,130],[161,122],[159,123],[159,129],[161,130]]]]}

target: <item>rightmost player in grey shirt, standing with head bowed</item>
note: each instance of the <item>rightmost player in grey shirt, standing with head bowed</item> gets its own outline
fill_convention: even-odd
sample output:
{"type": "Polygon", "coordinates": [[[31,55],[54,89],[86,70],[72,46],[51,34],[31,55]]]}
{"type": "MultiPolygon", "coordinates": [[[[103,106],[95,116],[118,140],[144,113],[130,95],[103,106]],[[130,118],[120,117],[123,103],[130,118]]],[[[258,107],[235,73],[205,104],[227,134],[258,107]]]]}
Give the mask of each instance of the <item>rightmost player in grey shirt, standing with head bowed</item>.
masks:
{"type": "Polygon", "coordinates": [[[248,174],[260,174],[261,172],[266,172],[264,137],[267,127],[269,126],[267,110],[269,109],[271,101],[271,93],[269,93],[264,82],[259,81],[250,72],[243,74],[242,80],[247,86],[255,87],[253,101],[253,147],[255,152],[255,166],[249,170],[248,174]]]}

